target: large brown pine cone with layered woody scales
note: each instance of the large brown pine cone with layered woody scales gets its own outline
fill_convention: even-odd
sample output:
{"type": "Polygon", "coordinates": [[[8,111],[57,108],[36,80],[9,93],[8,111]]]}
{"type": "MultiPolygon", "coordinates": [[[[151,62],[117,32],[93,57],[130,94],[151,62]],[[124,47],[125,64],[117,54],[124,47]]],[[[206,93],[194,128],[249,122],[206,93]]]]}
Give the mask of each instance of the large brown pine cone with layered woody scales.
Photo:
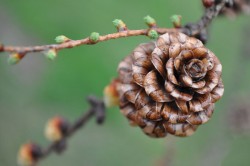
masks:
{"type": "Polygon", "coordinates": [[[149,136],[189,136],[211,118],[223,95],[221,71],[201,41],[166,33],[119,64],[121,112],[149,136]]]}

